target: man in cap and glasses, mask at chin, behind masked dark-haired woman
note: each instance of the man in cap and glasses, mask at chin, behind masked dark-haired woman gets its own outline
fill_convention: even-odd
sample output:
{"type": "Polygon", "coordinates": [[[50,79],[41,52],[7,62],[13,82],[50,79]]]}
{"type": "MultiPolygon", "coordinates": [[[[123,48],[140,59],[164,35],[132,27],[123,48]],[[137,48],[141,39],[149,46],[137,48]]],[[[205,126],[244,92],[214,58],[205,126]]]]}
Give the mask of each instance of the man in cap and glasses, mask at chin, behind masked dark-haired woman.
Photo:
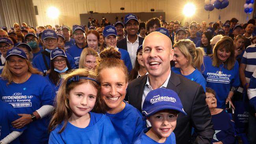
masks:
{"type": "MultiPolygon", "coordinates": [[[[50,52],[56,48],[58,48],[58,35],[54,30],[47,29],[42,33],[43,45],[45,46],[45,51],[41,52],[41,54],[37,55],[33,59],[33,66],[44,73],[44,76],[48,74],[50,71],[50,52]]],[[[75,68],[74,58],[67,54],[67,59],[72,66],[75,68]]]]}

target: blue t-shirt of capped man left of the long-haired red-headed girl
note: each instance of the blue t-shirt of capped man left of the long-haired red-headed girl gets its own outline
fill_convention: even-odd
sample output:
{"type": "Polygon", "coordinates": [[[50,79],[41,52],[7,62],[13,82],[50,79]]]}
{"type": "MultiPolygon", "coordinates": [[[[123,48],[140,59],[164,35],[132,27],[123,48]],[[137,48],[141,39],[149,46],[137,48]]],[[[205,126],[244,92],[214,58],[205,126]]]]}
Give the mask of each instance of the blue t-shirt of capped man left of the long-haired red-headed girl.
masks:
{"type": "MultiPolygon", "coordinates": [[[[85,46],[86,48],[87,46],[85,46]]],[[[76,44],[72,45],[70,48],[67,49],[67,53],[70,54],[74,62],[76,64],[76,68],[79,67],[79,60],[80,60],[80,55],[82,53],[84,48],[79,48],[76,44]]]]}

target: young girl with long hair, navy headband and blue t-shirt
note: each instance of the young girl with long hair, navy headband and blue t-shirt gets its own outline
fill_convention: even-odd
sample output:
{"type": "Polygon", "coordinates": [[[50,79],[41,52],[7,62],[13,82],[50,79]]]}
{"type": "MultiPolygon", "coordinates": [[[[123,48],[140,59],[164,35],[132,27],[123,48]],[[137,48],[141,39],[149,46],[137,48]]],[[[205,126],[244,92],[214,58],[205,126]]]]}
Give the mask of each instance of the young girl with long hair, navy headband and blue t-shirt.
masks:
{"type": "Polygon", "coordinates": [[[91,112],[98,105],[99,83],[86,69],[78,69],[63,78],[49,124],[49,144],[119,144],[109,118],[91,112]]]}

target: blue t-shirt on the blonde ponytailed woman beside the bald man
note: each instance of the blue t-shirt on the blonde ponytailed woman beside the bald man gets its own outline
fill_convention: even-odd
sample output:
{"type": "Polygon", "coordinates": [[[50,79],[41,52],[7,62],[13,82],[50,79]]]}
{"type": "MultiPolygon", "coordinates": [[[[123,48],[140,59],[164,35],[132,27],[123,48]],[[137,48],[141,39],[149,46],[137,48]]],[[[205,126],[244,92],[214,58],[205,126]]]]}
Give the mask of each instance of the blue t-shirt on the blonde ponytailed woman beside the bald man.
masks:
{"type": "MultiPolygon", "coordinates": [[[[180,68],[172,67],[172,71],[176,74],[182,75],[180,72],[180,68]]],[[[204,76],[201,74],[201,72],[199,72],[197,68],[191,74],[184,77],[191,81],[197,82],[199,85],[202,85],[204,91],[206,91],[206,80],[204,79],[204,76]]]]}

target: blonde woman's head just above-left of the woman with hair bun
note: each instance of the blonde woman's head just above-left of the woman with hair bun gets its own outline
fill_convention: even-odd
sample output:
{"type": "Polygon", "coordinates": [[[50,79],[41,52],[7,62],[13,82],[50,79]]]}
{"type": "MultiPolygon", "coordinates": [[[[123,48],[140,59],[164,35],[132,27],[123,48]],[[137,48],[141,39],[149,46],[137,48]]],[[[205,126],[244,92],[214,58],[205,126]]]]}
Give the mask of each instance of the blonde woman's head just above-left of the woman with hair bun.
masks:
{"type": "Polygon", "coordinates": [[[79,68],[94,69],[98,53],[93,48],[84,48],[79,60],[79,68]]]}

